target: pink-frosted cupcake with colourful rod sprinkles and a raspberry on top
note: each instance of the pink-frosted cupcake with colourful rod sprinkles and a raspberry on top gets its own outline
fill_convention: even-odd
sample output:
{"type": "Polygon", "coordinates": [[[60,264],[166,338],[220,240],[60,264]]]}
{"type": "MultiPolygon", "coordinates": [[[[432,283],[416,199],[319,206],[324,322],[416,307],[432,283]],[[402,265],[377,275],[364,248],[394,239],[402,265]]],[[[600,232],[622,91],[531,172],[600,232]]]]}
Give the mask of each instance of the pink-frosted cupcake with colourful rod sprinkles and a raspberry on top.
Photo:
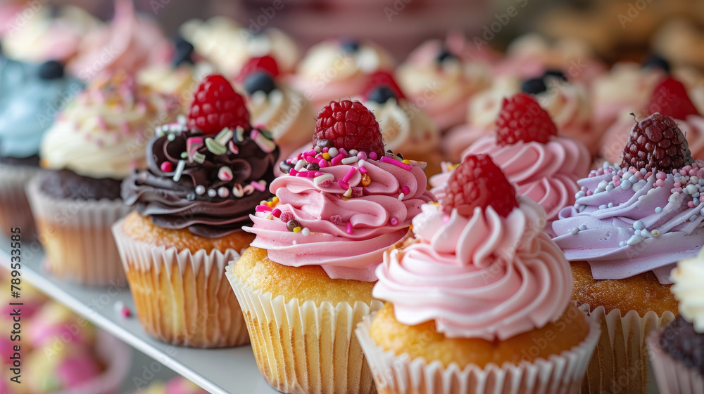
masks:
{"type": "Polygon", "coordinates": [[[227,277],[273,388],[374,393],[353,327],[382,306],[372,286],[384,250],[434,197],[415,162],[384,154],[379,124],[358,101],[320,110],[313,142],[282,162],[275,197],[246,228],[256,238],[227,277]]]}

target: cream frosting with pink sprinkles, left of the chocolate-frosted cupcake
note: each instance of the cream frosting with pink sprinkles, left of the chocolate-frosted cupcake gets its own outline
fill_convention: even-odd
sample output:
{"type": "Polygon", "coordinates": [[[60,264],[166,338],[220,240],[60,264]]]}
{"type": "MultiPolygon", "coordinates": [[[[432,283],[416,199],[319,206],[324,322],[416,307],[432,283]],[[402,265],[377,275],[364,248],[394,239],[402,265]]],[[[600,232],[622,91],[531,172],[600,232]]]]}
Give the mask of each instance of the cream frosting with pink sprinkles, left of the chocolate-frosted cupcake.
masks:
{"type": "MultiPolygon", "coordinates": [[[[146,166],[144,147],[153,122],[175,119],[171,99],[116,74],[96,79],[46,131],[39,156],[49,169],[94,178],[125,178],[146,166]]],[[[161,123],[160,123],[161,124],[161,123]]]]}

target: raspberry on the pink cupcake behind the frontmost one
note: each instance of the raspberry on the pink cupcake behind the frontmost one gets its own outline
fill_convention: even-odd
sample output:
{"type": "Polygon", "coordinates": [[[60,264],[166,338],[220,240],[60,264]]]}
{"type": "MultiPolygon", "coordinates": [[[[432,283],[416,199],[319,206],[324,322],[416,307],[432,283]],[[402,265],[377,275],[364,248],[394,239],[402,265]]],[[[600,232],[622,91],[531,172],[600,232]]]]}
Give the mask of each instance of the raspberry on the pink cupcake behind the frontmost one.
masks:
{"type": "Polygon", "coordinates": [[[503,99],[501,112],[496,119],[496,142],[498,145],[513,145],[519,141],[548,143],[551,136],[557,136],[550,115],[536,100],[526,94],[503,99]]]}

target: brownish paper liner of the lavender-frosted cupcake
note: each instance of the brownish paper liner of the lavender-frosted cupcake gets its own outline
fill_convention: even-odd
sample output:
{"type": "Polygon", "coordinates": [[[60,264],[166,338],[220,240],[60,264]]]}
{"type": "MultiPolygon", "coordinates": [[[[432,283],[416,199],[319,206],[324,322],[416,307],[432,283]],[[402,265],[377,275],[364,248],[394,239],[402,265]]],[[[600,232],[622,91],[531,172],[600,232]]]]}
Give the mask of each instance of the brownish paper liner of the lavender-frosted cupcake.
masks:
{"type": "Polygon", "coordinates": [[[658,316],[650,310],[641,317],[630,310],[621,317],[620,310],[606,313],[603,306],[591,310],[589,304],[584,304],[579,309],[601,325],[601,338],[587,369],[582,393],[658,393],[648,362],[646,337],[674,320],[674,314],[667,311],[658,316]]]}

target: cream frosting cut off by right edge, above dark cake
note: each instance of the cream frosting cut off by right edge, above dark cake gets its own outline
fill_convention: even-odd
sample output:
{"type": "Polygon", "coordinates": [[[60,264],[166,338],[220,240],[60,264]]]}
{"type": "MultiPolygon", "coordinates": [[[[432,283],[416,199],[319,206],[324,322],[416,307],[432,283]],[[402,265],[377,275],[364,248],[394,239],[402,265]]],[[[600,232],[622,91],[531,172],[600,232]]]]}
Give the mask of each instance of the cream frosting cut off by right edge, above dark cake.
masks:
{"type": "Polygon", "coordinates": [[[670,290],[679,301],[679,314],[694,325],[695,331],[704,334],[704,252],[680,260],[670,280],[674,282],[670,290]]]}

